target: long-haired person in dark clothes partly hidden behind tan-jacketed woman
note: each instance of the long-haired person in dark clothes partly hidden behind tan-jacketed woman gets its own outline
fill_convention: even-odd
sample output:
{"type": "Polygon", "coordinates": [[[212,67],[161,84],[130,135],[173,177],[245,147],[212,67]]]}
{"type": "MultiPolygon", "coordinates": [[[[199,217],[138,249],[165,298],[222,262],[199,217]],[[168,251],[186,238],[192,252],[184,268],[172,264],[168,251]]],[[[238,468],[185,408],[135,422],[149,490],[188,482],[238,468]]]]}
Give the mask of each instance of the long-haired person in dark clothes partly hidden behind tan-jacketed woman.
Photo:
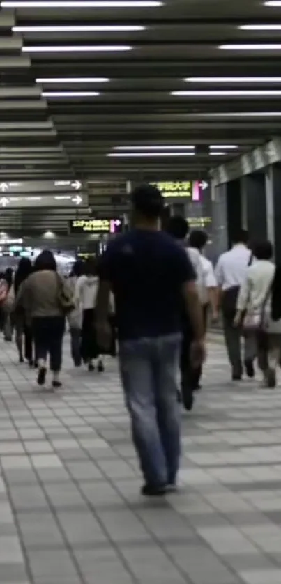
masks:
{"type": "MultiPolygon", "coordinates": [[[[28,278],[31,275],[32,270],[33,268],[30,259],[28,258],[20,259],[19,265],[17,266],[17,271],[15,272],[14,279],[15,298],[17,298],[17,293],[20,290],[20,286],[26,280],[26,278],[28,278]]],[[[15,310],[14,320],[15,320],[15,342],[17,345],[17,351],[19,353],[20,363],[24,362],[25,357],[26,360],[29,362],[29,365],[32,367],[33,359],[32,359],[31,323],[28,322],[23,307],[19,306],[18,309],[15,310]]]]}

